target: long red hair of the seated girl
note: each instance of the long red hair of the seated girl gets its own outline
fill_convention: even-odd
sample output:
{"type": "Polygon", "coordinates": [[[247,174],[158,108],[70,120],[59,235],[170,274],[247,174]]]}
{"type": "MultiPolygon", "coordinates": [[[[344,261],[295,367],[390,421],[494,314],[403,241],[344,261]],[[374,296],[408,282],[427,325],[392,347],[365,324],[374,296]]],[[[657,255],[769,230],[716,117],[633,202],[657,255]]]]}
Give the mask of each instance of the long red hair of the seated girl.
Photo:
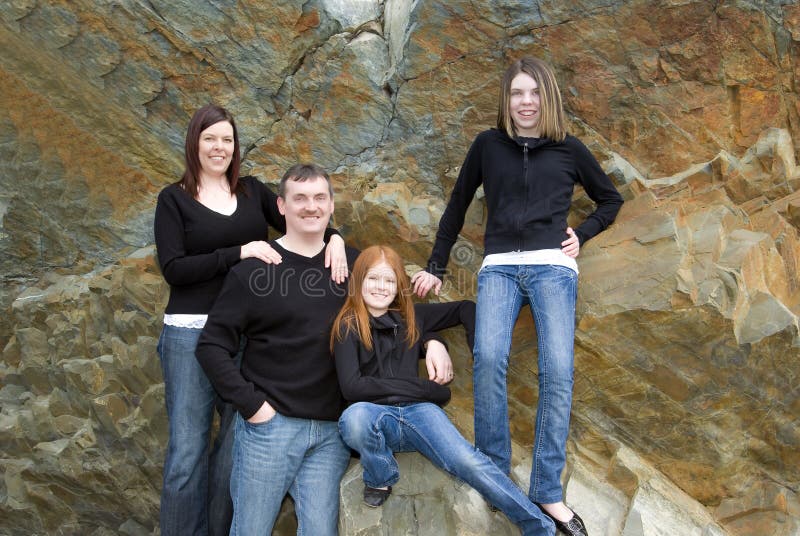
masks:
{"type": "Polygon", "coordinates": [[[414,302],[411,299],[411,281],[406,275],[403,259],[388,246],[370,246],[361,252],[353,265],[353,273],[350,274],[348,283],[347,299],[333,321],[331,352],[333,352],[334,344],[343,340],[350,333],[356,334],[367,350],[372,350],[369,311],[364,303],[361,288],[364,286],[367,272],[380,262],[388,264],[397,279],[397,296],[389,308],[398,311],[403,317],[406,324],[405,340],[408,347],[411,348],[419,340],[419,330],[414,317],[414,302]]]}

